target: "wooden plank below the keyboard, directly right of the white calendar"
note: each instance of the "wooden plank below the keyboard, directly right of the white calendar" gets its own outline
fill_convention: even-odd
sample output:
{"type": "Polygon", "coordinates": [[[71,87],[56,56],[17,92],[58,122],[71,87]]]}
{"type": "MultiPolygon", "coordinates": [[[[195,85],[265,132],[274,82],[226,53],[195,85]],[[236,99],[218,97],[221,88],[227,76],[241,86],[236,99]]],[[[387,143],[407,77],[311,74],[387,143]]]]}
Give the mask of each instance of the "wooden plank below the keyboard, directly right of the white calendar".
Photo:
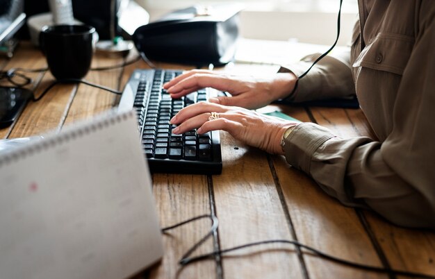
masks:
{"type": "MultiPolygon", "coordinates": [[[[202,214],[210,214],[206,176],[154,174],[153,190],[161,226],[171,226],[202,214]]],[[[154,267],[149,278],[216,278],[215,261],[196,262],[181,269],[178,262],[211,228],[210,219],[188,223],[163,236],[163,261],[154,267]]],[[[208,239],[193,255],[213,251],[208,239]]]]}

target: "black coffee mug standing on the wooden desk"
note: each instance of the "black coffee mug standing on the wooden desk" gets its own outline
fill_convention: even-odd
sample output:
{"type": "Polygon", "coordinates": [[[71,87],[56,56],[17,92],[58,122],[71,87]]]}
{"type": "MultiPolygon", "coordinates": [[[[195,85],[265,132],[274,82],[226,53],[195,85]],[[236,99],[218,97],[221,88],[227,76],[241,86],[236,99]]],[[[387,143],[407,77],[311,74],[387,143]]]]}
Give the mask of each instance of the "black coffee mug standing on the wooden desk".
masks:
{"type": "Polygon", "coordinates": [[[57,79],[83,78],[90,69],[95,28],[87,25],[44,26],[40,47],[57,79]]]}

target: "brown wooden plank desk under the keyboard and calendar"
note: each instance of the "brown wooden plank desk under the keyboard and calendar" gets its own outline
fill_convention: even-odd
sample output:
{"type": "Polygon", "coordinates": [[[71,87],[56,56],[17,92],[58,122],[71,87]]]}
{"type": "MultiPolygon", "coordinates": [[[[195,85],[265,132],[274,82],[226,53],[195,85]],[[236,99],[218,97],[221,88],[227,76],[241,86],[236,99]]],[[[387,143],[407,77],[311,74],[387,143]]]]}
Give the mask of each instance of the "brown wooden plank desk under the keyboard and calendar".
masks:
{"type": "MultiPolygon", "coordinates": [[[[118,58],[95,56],[93,67],[115,65],[118,58]]],[[[0,68],[37,69],[46,62],[40,51],[22,43],[12,60],[1,58],[0,68]]],[[[184,68],[157,64],[158,67],[184,68]]],[[[86,80],[122,90],[133,69],[147,67],[136,62],[124,69],[90,71],[86,80]]],[[[231,66],[230,66],[231,67],[231,66]]],[[[261,65],[236,65],[233,69],[263,72],[261,65]]],[[[28,74],[38,96],[54,78],[49,72],[28,74]]],[[[5,81],[1,81],[5,84],[5,81]]],[[[58,85],[38,103],[29,103],[0,138],[28,137],[60,130],[64,125],[87,119],[117,105],[118,97],[86,85],[58,85]]],[[[302,121],[314,121],[341,137],[369,135],[360,110],[282,107],[302,121]]],[[[371,212],[346,208],[327,196],[313,180],[292,169],[281,156],[267,155],[222,133],[220,176],[154,174],[161,226],[170,226],[199,214],[214,212],[219,229],[195,255],[267,239],[299,242],[362,264],[391,267],[435,276],[435,233],[392,226],[371,212]]],[[[394,278],[322,260],[289,244],[247,248],[214,260],[180,269],[177,261],[210,229],[204,219],[164,236],[165,257],[143,278],[394,278]]],[[[402,277],[398,277],[402,278],[402,277]]]]}

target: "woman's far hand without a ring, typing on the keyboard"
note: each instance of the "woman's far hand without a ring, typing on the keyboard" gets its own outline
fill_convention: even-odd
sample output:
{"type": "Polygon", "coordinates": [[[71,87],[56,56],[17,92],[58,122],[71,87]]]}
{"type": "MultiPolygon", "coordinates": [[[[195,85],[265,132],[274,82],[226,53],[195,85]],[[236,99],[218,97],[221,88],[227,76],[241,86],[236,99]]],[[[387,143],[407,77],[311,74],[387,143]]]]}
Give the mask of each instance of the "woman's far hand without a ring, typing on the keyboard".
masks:
{"type": "Polygon", "coordinates": [[[211,103],[255,109],[288,96],[293,91],[296,80],[296,76],[291,73],[278,73],[270,78],[254,78],[229,76],[216,71],[192,70],[165,83],[163,88],[172,98],[177,99],[201,88],[213,87],[229,92],[232,97],[211,98],[211,103]]]}

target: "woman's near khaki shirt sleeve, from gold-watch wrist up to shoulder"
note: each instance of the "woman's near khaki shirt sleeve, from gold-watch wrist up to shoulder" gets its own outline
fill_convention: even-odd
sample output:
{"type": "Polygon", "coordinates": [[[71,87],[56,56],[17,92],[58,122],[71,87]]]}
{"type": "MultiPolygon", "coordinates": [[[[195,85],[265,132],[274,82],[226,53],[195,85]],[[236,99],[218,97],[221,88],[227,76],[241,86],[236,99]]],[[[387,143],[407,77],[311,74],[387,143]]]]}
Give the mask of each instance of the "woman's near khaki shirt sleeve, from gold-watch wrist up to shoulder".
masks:
{"type": "Polygon", "coordinates": [[[341,139],[327,128],[304,123],[290,133],[285,145],[286,160],[312,176],[327,194],[345,205],[372,208],[401,226],[432,229],[435,228],[433,7],[422,7],[416,43],[394,93],[393,130],[386,140],[341,139]]]}

